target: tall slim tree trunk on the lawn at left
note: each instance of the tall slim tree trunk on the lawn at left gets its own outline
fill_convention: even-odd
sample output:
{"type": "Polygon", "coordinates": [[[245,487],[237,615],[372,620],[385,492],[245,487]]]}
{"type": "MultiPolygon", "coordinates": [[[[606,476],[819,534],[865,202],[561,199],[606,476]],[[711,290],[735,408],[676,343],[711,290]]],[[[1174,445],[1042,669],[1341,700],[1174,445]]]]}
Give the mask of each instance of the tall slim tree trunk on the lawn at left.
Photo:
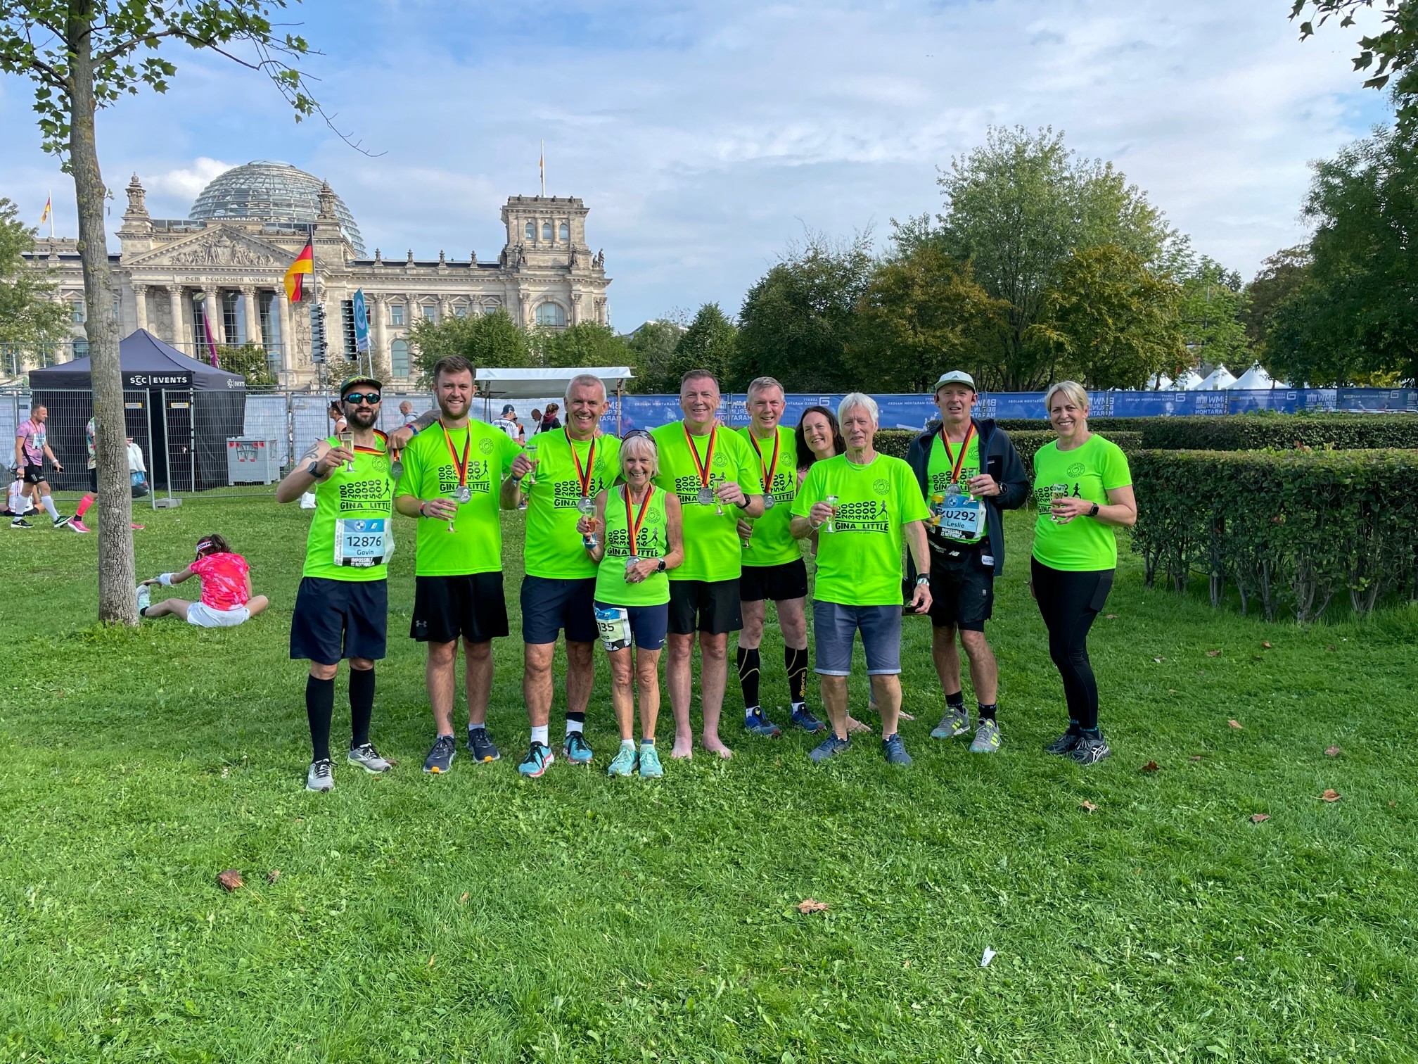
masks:
{"type": "Polygon", "coordinates": [[[118,362],[118,321],[108,271],[108,235],[104,231],[104,176],[94,136],[92,24],[92,3],[75,0],[69,4],[65,24],[69,50],[69,169],[78,201],[79,260],[84,264],[84,299],[88,304],[85,331],[92,365],[99,505],[98,619],[104,623],[138,624],[123,376],[118,362]]]}

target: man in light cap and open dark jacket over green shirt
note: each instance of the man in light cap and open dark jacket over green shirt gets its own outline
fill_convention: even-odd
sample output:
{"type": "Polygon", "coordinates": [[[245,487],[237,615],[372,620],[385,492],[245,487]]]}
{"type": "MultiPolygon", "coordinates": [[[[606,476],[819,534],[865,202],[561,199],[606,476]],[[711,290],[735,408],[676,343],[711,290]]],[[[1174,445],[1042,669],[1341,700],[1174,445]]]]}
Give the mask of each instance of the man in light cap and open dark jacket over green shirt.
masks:
{"type": "Polygon", "coordinates": [[[946,695],[946,714],[930,735],[949,739],[970,731],[956,648],[959,630],[970,658],[970,684],[980,702],[980,724],[970,749],[994,753],[1000,749],[998,667],[984,638],[984,623],[994,609],[994,577],[1004,572],[1001,512],[1024,505],[1029,480],[1008,434],[993,419],[971,417],[977,399],[974,377],[961,370],[943,373],[936,382],[940,423],[912,441],[906,461],[932,514],[926,522],[930,655],[946,695]]]}

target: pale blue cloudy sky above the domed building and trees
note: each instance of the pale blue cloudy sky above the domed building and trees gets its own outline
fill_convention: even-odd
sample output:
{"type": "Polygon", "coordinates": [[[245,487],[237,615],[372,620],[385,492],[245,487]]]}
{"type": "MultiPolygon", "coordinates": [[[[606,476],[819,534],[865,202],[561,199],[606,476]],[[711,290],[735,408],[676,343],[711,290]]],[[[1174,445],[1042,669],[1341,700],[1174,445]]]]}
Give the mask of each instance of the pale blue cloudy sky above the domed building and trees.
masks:
{"type": "MultiPolygon", "coordinates": [[[[295,125],[259,75],[174,50],[166,96],[99,116],[108,183],[136,172],[186,217],[227,166],[282,159],[330,182],[366,244],[420,257],[502,245],[537,189],[590,207],[613,322],[743,292],[804,227],[847,235],[940,209],[936,170],[990,125],[1052,125],[1113,160],[1198,251],[1245,277],[1305,237],[1309,162],[1384,121],[1351,72],[1357,30],[1300,44],[1289,0],[549,3],[309,0],[291,9],[336,125],[295,125]]],[[[0,196],[74,234],[31,89],[0,77],[0,196]]],[[[116,214],[113,218],[116,227],[116,214]]]]}

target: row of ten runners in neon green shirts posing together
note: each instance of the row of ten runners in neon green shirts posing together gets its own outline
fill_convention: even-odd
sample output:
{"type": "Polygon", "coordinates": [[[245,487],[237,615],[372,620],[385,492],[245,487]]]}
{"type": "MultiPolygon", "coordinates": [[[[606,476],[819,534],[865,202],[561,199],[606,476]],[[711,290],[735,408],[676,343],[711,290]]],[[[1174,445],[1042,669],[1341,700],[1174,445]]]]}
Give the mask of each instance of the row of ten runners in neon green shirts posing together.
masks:
{"type": "MultiPolygon", "coordinates": [[[[540,776],[556,760],[549,731],[560,637],[567,655],[560,753],[571,765],[593,760],[586,714],[597,643],[610,657],[621,739],[611,775],[664,773],[657,722],[659,658],[666,648],[671,756],[692,755],[695,644],[699,741],[709,752],[732,756],[719,729],[732,631],[740,633],[736,664],[744,726],[757,736],[780,735],[759,689],[769,600],[783,631],[786,724],[824,735],[811,752],[814,760],[842,753],[854,732],[869,731],[848,712],[847,681],[859,636],[883,755],[891,763],[910,763],[898,729],[903,613],[932,619],[932,655],[946,699],[932,736],[971,733],[959,641],[978,699],[970,749],[1000,748],[998,681],[984,623],[1004,565],[1001,511],[1024,505],[1031,485],[1008,434],[988,419],[974,419],[977,396],[968,375],[940,377],[942,420],[912,441],[906,460],[876,453],[876,403],[861,393],[847,396],[837,411],[810,407],[795,428],[780,424],[784,393],[771,377],[749,386],[744,428],[719,423],[718,382],[692,370],[681,387],[683,420],[635,428],[618,440],[600,430],[604,384],[577,376],[567,386],[564,427],[535,437],[535,448],[469,417],[476,389],[465,359],[442,359],[434,387],[438,409],[386,436],[374,427],[380,382],[345,380],[339,401],[347,431],[316,443],[277,491],[281,502],[306,491],[316,497],[291,624],[291,657],[311,663],[308,789],[333,787],[330,725],[340,661],[350,664],[347,762],[376,773],[390,767],[370,741],[370,719],[374,663],[386,653],[396,511],[417,529],[410,636],[427,644],[435,726],[424,772],[447,773],[458,753],[452,702],[459,641],[467,750],[475,762],[501,758],[488,731],[492,640],[509,634],[501,511],[523,501],[519,594],[530,724],[527,752],[518,765],[523,776],[540,776]],[[804,691],[804,555],[815,569],[814,668],[825,722],[811,712],[804,691]]],[[[1045,404],[1059,438],[1034,460],[1039,519],[1031,589],[1069,708],[1068,731],[1048,749],[1093,763],[1109,749],[1098,728],[1086,637],[1117,562],[1110,526],[1133,523],[1136,506],[1126,457],[1088,431],[1086,393],[1065,382],[1049,390],[1045,404]]]]}

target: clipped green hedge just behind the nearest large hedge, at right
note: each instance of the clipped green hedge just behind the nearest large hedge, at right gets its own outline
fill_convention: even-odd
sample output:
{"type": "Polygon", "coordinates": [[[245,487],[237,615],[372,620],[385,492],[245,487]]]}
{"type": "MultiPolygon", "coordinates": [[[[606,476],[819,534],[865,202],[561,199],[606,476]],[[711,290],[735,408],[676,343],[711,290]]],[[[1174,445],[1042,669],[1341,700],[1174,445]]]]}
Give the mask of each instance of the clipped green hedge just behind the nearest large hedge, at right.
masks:
{"type": "Polygon", "coordinates": [[[1163,451],[1418,448],[1418,416],[1414,414],[1235,414],[1141,420],[1143,447],[1163,451]]]}

